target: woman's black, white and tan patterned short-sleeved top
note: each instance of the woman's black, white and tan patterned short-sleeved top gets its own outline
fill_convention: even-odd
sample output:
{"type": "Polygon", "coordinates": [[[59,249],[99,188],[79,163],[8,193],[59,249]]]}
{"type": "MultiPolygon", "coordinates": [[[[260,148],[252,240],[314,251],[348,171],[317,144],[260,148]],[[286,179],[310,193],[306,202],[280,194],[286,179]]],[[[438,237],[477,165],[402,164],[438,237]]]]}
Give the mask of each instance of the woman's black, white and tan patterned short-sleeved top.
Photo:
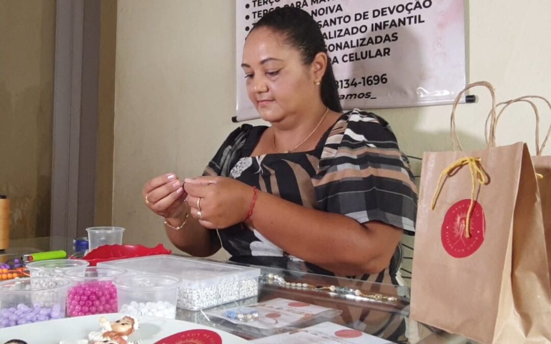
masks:
{"type": "MultiPolygon", "coordinates": [[[[409,163],[382,118],[355,109],[344,113],[312,151],[251,156],[267,128],[244,124],[235,129],[204,175],[231,177],[306,208],[342,214],[359,223],[381,221],[413,234],[416,187],[409,163]]],[[[284,252],[245,223],[219,234],[232,261],[333,275],[284,252]]],[[[388,269],[358,277],[396,285],[401,260],[398,247],[388,269]]]]}

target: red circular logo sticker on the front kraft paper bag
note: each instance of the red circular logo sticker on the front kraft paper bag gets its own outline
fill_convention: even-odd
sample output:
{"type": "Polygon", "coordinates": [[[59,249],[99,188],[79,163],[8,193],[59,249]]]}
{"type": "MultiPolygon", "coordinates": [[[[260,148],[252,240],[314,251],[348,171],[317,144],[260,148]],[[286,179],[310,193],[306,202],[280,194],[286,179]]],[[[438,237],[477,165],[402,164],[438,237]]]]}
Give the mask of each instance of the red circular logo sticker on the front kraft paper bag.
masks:
{"type": "Polygon", "coordinates": [[[484,210],[477,201],[474,201],[471,215],[471,237],[465,237],[465,221],[469,206],[470,199],[458,201],[448,209],[442,223],[442,245],[446,252],[455,258],[465,258],[473,254],[484,242],[484,210]]]}

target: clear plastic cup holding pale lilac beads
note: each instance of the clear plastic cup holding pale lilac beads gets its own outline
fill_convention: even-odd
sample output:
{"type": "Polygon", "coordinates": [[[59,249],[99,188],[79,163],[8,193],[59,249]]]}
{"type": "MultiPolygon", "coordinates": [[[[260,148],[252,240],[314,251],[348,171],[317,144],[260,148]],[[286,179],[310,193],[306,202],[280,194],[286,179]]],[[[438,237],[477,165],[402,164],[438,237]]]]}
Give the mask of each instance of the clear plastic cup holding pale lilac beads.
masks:
{"type": "Polygon", "coordinates": [[[0,283],[0,327],[65,318],[69,282],[36,277],[0,283]]]}

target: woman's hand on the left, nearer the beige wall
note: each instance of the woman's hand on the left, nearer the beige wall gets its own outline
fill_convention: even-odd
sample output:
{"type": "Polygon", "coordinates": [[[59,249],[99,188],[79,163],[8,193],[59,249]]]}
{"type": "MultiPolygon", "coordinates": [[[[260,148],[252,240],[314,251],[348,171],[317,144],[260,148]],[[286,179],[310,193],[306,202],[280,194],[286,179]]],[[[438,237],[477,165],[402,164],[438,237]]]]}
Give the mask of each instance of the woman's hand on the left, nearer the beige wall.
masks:
{"type": "Polygon", "coordinates": [[[163,174],[145,183],[142,196],[147,208],[165,219],[183,219],[186,192],[182,181],[174,173],[163,174]]]}

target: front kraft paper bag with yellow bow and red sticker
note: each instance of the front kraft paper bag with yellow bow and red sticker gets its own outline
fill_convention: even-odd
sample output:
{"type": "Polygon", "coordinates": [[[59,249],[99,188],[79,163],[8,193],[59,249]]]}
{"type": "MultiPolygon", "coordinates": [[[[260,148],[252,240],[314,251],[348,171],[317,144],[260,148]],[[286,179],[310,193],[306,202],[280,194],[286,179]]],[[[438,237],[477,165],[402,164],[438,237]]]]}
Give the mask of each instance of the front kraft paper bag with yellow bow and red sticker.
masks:
{"type": "Polygon", "coordinates": [[[526,144],[495,147],[495,106],[490,84],[468,85],[451,114],[454,151],[424,154],[411,317],[482,343],[544,343],[551,292],[536,173],[526,144]],[[489,145],[464,152],[455,110],[474,86],[493,99],[489,145]]]}

